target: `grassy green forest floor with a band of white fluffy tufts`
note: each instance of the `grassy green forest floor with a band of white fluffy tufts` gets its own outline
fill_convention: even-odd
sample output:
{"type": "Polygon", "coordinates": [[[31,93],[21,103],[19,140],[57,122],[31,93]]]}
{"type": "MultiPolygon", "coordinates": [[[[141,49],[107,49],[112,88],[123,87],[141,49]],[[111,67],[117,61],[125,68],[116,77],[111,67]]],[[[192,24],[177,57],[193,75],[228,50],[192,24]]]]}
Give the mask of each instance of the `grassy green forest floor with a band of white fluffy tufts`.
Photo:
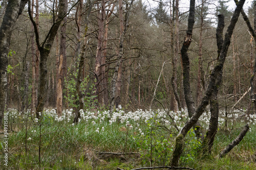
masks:
{"type": "MultiPolygon", "coordinates": [[[[73,124],[73,110],[57,116],[46,110],[41,119],[8,109],[8,144],[0,134],[0,169],[134,169],[168,166],[174,139],[185,124],[187,113],[163,110],[126,112],[80,111],[81,120],[73,124]],[[6,152],[7,146],[7,152],[6,152]],[[5,155],[8,155],[6,164],[5,155]],[[4,159],[2,159],[4,158],[4,159]]],[[[219,129],[210,155],[200,153],[201,141],[190,130],[180,166],[193,169],[256,169],[256,116],[233,111],[220,113],[219,129]],[[248,123],[244,139],[224,158],[219,153],[248,123]]],[[[200,118],[204,131],[209,113],[200,118]]],[[[168,169],[168,168],[155,168],[168,169]]]]}

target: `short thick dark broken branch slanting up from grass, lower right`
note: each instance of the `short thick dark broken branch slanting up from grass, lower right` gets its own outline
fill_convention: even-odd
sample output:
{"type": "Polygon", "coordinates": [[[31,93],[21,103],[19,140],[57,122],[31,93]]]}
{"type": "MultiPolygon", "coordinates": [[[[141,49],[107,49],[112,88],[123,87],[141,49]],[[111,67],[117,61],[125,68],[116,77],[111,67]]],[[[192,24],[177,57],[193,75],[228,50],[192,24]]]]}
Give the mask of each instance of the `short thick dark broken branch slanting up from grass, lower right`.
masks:
{"type": "Polygon", "coordinates": [[[239,142],[244,138],[246,135],[247,131],[249,130],[249,125],[246,124],[242,130],[242,132],[238,135],[236,139],[234,139],[227,147],[221,151],[219,157],[223,158],[227,153],[229,153],[236,145],[239,144],[239,142]]]}

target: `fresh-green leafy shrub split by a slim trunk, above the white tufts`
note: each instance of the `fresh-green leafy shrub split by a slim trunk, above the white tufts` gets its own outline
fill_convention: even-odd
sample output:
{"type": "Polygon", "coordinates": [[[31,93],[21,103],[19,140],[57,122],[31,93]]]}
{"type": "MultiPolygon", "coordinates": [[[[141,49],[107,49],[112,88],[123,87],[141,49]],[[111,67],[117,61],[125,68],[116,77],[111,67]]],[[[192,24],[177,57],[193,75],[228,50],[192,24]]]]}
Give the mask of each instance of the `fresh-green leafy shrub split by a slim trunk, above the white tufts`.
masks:
{"type": "MultiPolygon", "coordinates": [[[[77,83],[77,74],[78,74],[78,68],[77,68],[77,62],[75,65],[73,65],[74,72],[71,71],[71,68],[68,68],[68,76],[65,78],[65,84],[67,88],[67,94],[64,96],[64,98],[68,101],[69,106],[71,106],[74,109],[79,108],[79,98],[76,90],[76,83],[77,83]]],[[[89,76],[85,77],[80,85],[83,99],[84,99],[84,109],[93,109],[96,106],[97,103],[97,95],[95,95],[95,82],[90,84],[89,76]]]]}

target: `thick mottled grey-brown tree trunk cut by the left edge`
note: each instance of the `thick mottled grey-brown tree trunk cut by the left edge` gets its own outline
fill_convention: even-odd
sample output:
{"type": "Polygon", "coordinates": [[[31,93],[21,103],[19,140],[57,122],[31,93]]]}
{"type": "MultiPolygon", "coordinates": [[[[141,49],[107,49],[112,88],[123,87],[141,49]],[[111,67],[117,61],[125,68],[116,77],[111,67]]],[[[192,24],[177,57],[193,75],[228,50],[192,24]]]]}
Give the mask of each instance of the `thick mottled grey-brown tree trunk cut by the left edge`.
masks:
{"type": "Polygon", "coordinates": [[[7,66],[12,28],[28,1],[9,0],[0,27],[0,124],[5,112],[7,98],[7,66]]]}

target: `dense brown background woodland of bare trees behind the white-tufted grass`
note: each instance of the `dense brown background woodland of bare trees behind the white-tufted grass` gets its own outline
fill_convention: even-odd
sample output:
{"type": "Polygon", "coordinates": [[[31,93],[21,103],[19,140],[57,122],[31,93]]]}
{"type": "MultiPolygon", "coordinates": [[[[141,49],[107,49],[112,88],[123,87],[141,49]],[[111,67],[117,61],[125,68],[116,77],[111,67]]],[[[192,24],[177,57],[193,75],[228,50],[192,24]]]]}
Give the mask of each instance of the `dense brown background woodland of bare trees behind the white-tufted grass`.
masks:
{"type": "MultiPolygon", "coordinates": [[[[79,6],[77,1],[68,1],[69,13],[67,19],[61,22],[61,26],[64,23],[66,26],[65,35],[60,29],[58,30],[49,54],[47,60],[45,107],[56,107],[56,84],[59,72],[61,36],[66,38],[66,62],[63,65],[63,68],[65,68],[64,72],[66,72],[64,74],[66,81],[62,80],[62,109],[78,108],[78,97],[74,89],[82,51],[84,52],[84,64],[81,81],[86,80],[82,91],[83,98],[87,101],[84,109],[106,108],[110,104],[111,80],[119,50],[119,5],[117,1],[92,2],[92,9],[87,20],[86,13],[89,10],[89,1],[81,2],[82,5],[79,6]],[[100,9],[102,3],[105,4],[104,10],[100,9]],[[112,7],[113,14],[109,15],[112,13],[112,7]],[[100,15],[98,12],[104,12],[104,18],[102,18],[104,23],[103,29],[108,25],[108,35],[107,37],[103,36],[106,47],[100,49],[104,51],[101,53],[100,58],[104,58],[104,63],[99,63],[100,69],[103,70],[100,73],[96,72],[95,67],[96,56],[99,53],[97,46],[99,45],[98,35],[100,29],[98,18],[100,15]],[[109,18],[106,20],[108,15],[109,18]],[[86,35],[85,31],[87,32],[86,35]],[[80,46],[79,48],[78,45],[80,46]],[[96,95],[105,98],[103,104],[102,102],[97,102],[99,99],[96,95]]],[[[123,15],[127,13],[130,3],[130,1],[122,2],[121,10],[123,15]]],[[[50,1],[38,1],[38,5],[38,35],[41,42],[48,35],[53,22],[56,21],[56,10],[59,4],[53,4],[50,1]]],[[[227,6],[225,1],[203,0],[196,2],[195,26],[188,53],[191,67],[191,94],[198,101],[201,100],[205,92],[209,74],[217,62],[217,43],[215,37],[217,14],[224,14],[225,20],[228,20],[233,13],[227,9],[227,6]],[[218,5],[212,6],[214,3],[218,5]]],[[[176,33],[174,30],[178,24],[177,16],[174,15],[174,12],[178,10],[178,48],[180,48],[185,37],[184,30],[187,27],[188,8],[184,8],[184,5],[182,5],[182,7],[176,9],[175,1],[159,1],[157,7],[150,6],[147,2],[135,1],[131,8],[129,27],[123,42],[123,57],[120,68],[121,79],[118,85],[120,86],[119,104],[133,110],[137,108],[149,109],[150,107],[154,109],[162,107],[162,105],[170,110],[174,110],[177,107],[177,103],[173,102],[175,101],[175,96],[171,81],[173,75],[171,59],[174,55],[173,51],[177,47],[172,48],[171,46],[175,42],[176,33]]],[[[32,56],[36,55],[36,50],[31,46],[34,43],[35,37],[33,36],[34,29],[31,27],[27,10],[28,6],[25,7],[23,14],[15,23],[8,55],[8,95],[6,104],[8,108],[17,108],[21,111],[27,109],[34,110],[33,107],[35,106],[32,105],[32,89],[38,86],[38,82],[34,82],[32,79],[32,68],[34,67],[38,70],[38,65],[34,64],[32,60],[32,56]]],[[[36,13],[35,10],[32,12],[36,13]]],[[[254,15],[253,8],[249,8],[247,13],[249,18],[252,19],[254,15]]],[[[33,17],[36,16],[33,15],[33,17]]],[[[103,35],[105,32],[106,30],[103,30],[103,35]]],[[[253,57],[251,57],[254,51],[251,48],[252,42],[250,40],[251,36],[247,31],[243,18],[240,16],[231,38],[231,45],[223,70],[223,81],[218,95],[222,110],[229,111],[234,102],[237,102],[250,87],[249,80],[254,62],[253,57]]],[[[36,56],[36,58],[40,60],[39,56],[36,56]]],[[[180,52],[176,59],[177,92],[181,106],[185,108],[180,52]]],[[[37,93],[36,89],[36,95],[37,93]]],[[[244,110],[249,100],[250,97],[247,94],[235,107],[244,110]]]]}

